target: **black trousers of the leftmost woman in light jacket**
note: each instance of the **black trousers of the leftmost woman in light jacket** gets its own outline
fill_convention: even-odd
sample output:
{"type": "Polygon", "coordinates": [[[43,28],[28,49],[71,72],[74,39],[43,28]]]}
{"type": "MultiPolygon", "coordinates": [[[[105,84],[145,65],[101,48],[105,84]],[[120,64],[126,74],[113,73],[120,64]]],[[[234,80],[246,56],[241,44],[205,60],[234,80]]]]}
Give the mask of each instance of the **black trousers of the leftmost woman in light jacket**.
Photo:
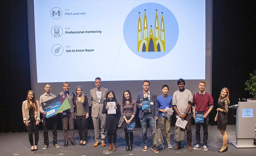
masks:
{"type": "Polygon", "coordinates": [[[30,121],[28,122],[28,127],[26,126],[26,128],[28,130],[28,140],[30,142],[30,145],[31,146],[34,145],[33,132],[35,134],[35,145],[37,145],[39,140],[39,134],[38,134],[39,125],[36,125],[36,121],[30,121]]]}

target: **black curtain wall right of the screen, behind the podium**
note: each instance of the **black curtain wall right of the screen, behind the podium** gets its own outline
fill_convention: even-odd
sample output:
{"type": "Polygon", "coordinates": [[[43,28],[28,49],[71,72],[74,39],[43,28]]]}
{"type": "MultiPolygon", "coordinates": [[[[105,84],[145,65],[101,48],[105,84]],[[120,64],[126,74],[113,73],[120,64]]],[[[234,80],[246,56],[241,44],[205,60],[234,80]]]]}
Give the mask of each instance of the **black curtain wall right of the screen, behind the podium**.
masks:
{"type": "MultiPolygon", "coordinates": [[[[227,87],[230,105],[252,95],[244,82],[256,69],[256,1],[213,0],[212,97],[214,122],[220,90],[227,87]]],[[[236,110],[229,109],[228,124],[236,124],[236,110]]]]}

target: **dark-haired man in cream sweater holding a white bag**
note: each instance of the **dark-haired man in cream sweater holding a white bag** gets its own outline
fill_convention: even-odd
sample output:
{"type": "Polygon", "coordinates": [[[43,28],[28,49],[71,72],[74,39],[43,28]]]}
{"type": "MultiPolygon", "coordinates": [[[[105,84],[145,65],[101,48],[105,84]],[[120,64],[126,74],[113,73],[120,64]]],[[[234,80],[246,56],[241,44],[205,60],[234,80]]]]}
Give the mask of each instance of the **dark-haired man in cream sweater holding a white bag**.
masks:
{"type": "MultiPolygon", "coordinates": [[[[185,80],[179,79],[177,81],[177,85],[179,86],[179,90],[175,91],[172,96],[172,106],[174,111],[176,112],[176,116],[179,116],[182,120],[188,121],[186,125],[187,131],[187,144],[188,144],[188,151],[192,151],[193,148],[191,147],[192,142],[192,131],[191,131],[191,107],[193,106],[193,96],[190,90],[185,89],[185,80]]],[[[175,136],[179,136],[180,134],[177,133],[181,129],[178,126],[175,126],[175,136]]],[[[181,131],[179,131],[181,132],[181,131]]],[[[175,146],[175,150],[180,149],[181,142],[177,142],[175,146]]]]}

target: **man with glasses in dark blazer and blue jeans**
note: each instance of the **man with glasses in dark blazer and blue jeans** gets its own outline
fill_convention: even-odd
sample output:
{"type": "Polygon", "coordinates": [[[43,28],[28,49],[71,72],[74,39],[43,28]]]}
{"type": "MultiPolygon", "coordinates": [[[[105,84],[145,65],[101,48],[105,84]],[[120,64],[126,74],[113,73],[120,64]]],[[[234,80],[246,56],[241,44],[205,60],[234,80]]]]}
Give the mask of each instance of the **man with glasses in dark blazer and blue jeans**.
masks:
{"type": "MultiPolygon", "coordinates": [[[[159,108],[157,105],[157,96],[156,93],[154,93],[153,91],[149,90],[149,85],[150,85],[150,81],[148,80],[144,80],[142,82],[142,87],[143,87],[143,91],[138,93],[138,97],[137,97],[137,107],[139,108],[139,118],[140,118],[140,124],[141,124],[141,131],[142,131],[142,139],[143,139],[143,151],[146,152],[148,150],[148,143],[147,143],[147,127],[149,123],[149,127],[151,130],[151,133],[153,131],[155,131],[155,122],[158,119],[158,113],[159,113],[159,108]],[[150,108],[148,108],[145,111],[142,111],[142,103],[141,103],[141,99],[142,98],[146,98],[148,97],[148,100],[150,102],[150,108]]],[[[152,135],[151,135],[152,137],[152,135]]],[[[159,151],[156,148],[156,145],[153,144],[153,139],[152,139],[152,151],[154,151],[155,153],[158,153],[159,151]]]]}

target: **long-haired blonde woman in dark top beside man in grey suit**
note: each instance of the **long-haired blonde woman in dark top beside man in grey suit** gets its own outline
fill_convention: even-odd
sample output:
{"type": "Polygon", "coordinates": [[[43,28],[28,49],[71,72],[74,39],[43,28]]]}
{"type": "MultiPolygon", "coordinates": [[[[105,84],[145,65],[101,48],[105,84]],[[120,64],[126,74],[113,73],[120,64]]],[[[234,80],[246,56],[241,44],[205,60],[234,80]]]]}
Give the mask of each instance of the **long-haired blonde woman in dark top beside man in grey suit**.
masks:
{"type": "Polygon", "coordinates": [[[76,124],[80,137],[79,144],[84,146],[88,134],[89,104],[88,98],[84,95],[81,86],[76,87],[76,96],[73,97],[73,103],[75,105],[76,124]]]}

